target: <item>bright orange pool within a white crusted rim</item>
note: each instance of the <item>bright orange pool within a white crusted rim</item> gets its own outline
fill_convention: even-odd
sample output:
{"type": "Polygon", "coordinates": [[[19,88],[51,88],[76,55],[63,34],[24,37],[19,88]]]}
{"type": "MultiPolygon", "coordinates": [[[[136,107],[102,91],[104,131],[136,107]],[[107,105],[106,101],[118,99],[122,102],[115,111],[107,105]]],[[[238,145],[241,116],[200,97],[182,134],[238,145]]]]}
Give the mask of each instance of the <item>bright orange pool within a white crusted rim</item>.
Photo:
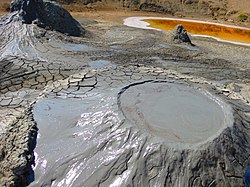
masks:
{"type": "Polygon", "coordinates": [[[176,25],[182,24],[191,34],[213,36],[223,40],[250,44],[250,30],[246,29],[179,20],[145,19],[144,21],[148,22],[150,27],[162,30],[172,30],[176,25]]]}

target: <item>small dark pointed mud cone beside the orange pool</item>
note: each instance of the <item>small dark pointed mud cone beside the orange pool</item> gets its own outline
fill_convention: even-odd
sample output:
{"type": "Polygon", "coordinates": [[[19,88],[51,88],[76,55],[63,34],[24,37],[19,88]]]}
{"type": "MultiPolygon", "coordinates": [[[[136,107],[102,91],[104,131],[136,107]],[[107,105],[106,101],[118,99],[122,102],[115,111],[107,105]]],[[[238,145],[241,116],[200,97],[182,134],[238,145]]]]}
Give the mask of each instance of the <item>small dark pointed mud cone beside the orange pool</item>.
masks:
{"type": "Polygon", "coordinates": [[[186,29],[181,24],[177,25],[173,32],[173,41],[175,43],[186,43],[192,46],[194,45],[192,44],[186,29]]]}

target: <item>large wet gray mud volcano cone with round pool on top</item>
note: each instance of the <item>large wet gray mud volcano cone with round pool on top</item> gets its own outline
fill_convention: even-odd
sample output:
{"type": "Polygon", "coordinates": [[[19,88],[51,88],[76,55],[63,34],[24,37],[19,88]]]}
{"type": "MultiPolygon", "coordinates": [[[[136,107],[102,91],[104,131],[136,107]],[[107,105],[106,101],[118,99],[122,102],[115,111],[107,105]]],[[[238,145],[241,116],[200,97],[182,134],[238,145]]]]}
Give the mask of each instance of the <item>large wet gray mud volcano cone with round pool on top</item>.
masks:
{"type": "MultiPolygon", "coordinates": [[[[133,67],[129,66],[127,69],[133,67]]],[[[217,92],[210,86],[206,87],[211,94],[204,88],[201,91],[195,85],[202,85],[186,82],[187,80],[173,82],[165,78],[161,83],[149,81],[149,78],[156,79],[161,74],[168,74],[166,70],[159,71],[153,67],[135,68],[129,71],[133,74],[132,79],[121,73],[124,70],[124,67],[116,67],[86,71],[87,73],[75,74],[61,81],[56,88],[46,90],[45,98],[40,99],[33,107],[39,135],[35,149],[36,179],[30,186],[155,186],[163,185],[163,182],[172,186],[200,186],[203,182],[207,185],[213,182],[210,181],[213,176],[216,176],[213,183],[220,186],[227,186],[229,181],[231,184],[241,181],[235,180],[235,177],[233,180],[230,177],[220,178],[223,170],[217,166],[217,162],[223,160],[236,176],[242,175],[240,173],[243,172],[242,166],[233,160],[236,157],[236,148],[243,151],[246,147],[242,149],[241,143],[235,141],[235,138],[243,140],[242,133],[247,131],[249,121],[238,112],[234,112],[232,116],[226,97],[213,96],[217,92]],[[146,74],[143,73],[145,70],[146,74]],[[159,72],[158,76],[154,75],[156,72],[159,72]],[[83,85],[90,85],[88,77],[95,77],[97,84],[94,89],[81,95],[84,91],[83,85]],[[107,79],[108,77],[110,79],[107,79]],[[83,87],[74,89],[79,84],[83,87]],[[141,92],[140,96],[138,92],[141,92]],[[73,94],[79,98],[69,99],[73,94]],[[152,97],[147,97],[147,94],[152,97]],[[171,103],[175,104],[173,101],[176,98],[167,100],[167,96],[173,94],[176,98],[186,101],[186,107],[192,108],[190,105],[193,100],[200,101],[193,103],[198,105],[199,111],[197,108],[193,110],[205,114],[196,115],[194,118],[208,121],[195,124],[197,121],[192,118],[194,123],[191,123],[191,131],[186,127],[177,127],[176,121],[173,122],[175,125],[167,123],[171,122],[171,112],[178,110],[165,110],[166,101],[170,106],[171,103]],[[130,97],[131,95],[136,96],[130,97]],[[164,102],[161,104],[160,101],[155,101],[157,98],[163,99],[164,102]],[[138,124],[134,118],[131,119],[134,115],[138,117],[138,111],[132,111],[132,115],[131,111],[125,112],[126,106],[135,109],[139,103],[134,104],[134,101],[139,99],[144,101],[142,105],[151,102],[150,107],[139,107],[141,113],[145,112],[145,118],[151,120],[148,120],[149,123],[152,122],[149,125],[153,128],[156,125],[164,125],[162,132],[168,132],[167,135],[155,133],[153,128],[144,128],[142,125],[145,124],[138,124]],[[160,106],[154,107],[156,103],[160,106]],[[158,107],[164,110],[155,112],[154,109],[158,107]],[[159,113],[162,113],[164,118],[158,118],[159,113]],[[151,116],[153,118],[150,118],[151,116]],[[154,123],[161,119],[166,121],[154,123]],[[209,126],[204,123],[209,123],[209,126]],[[203,125],[202,129],[199,129],[200,125],[203,125]],[[166,127],[175,131],[181,129],[182,141],[173,138],[171,133],[169,135],[170,131],[166,130],[166,127]],[[237,135],[232,136],[231,133],[237,135]],[[191,137],[187,138],[187,134],[191,137]],[[201,159],[203,157],[209,159],[201,159]],[[177,165],[179,167],[176,168],[177,165]],[[206,175],[203,175],[204,172],[206,175]],[[201,180],[186,180],[194,175],[202,176],[201,180]]],[[[237,108],[237,111],[249,109],[243,104],[236,106],[231,103],[231,106],[234,110],[237,108]]],[[[185,110],[182,103],[182,108],[179,109],[183,108],[185,110]]],[[[240,155],[241,157],[237,158],[244,160],[247,152],[243,151],[240,155]]]]}

